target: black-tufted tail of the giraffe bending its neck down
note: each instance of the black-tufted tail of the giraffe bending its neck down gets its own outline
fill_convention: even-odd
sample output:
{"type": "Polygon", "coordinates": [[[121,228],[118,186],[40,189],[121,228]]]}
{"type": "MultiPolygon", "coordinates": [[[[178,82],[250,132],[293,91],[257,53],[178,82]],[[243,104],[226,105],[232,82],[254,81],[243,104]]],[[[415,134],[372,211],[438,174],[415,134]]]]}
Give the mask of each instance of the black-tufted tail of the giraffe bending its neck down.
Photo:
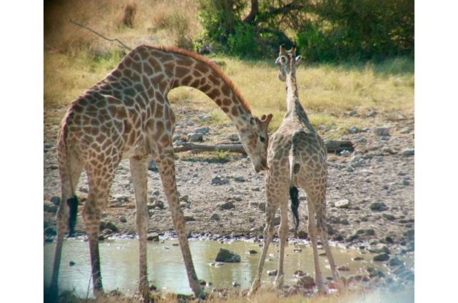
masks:
{"type": "MultiPolygon", "coordinates": [[[[73,187],[73,180],[71,178],[71,166],[70,166],[70,158],[68,156],[68,144],[67,144],[67,128],[66,123],[69,118],[69,115],[66,118],[66,121],[63,125],[61,125],[61,133],[60,138],[61,142],[63,143],[63,153],[66,158],[65,163],[63,165],[66,167],[64,170],[66,171],[66,178],[68,178],[72,196],[66,200],[68,205],[68,236],[72,237],[75,233],[75,226],[76,226],[76,217],[78,215],[78,197],[75,194],[75,188],[73,187]]],[[[62,182],[62,180],[61,180],[62,182]]],[[[62,201],[63,202],[63,201],[62,201]]]]}

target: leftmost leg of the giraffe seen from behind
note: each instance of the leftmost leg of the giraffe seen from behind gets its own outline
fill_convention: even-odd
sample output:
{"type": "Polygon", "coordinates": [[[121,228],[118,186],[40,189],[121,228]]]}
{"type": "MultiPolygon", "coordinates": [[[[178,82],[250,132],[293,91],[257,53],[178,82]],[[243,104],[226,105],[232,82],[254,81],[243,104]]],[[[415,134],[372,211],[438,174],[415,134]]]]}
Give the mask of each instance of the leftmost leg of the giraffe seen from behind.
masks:
{"type": "Polygon", "coordinates": [[[258,291],[259,287],[261,286],[261,277],[263,276],[263,267],[265,262],[265,257],[267,255],[270,242],[273,239],[274,233],[274,223],[275,223],[275,212],[277,212],[278,206],[274,204],[274,202],[270,200],[269,193],[268,193],[268,203],[265,210],[266,215],[266,225],[264,227],[264,245],[263,245],[263,252],[261,253],[261,257],[259,260],[258,265],[258,273],[256,274],[253,283],[251,284],[250,292],[248,292],[248,297],[255,294],[258,291]]]}

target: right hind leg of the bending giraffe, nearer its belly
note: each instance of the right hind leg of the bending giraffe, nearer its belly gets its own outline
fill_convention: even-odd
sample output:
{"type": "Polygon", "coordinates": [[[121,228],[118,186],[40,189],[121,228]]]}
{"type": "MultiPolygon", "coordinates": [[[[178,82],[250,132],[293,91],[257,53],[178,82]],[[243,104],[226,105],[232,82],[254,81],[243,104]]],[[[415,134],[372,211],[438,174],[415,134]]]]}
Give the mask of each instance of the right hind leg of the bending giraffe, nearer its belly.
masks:
{"type": "Polygon", "coordinates": [[[111,163],[106,165],[103,170],[96,168],[98,160],[89,162],[86,165],[89,194],[83,209],[83,220],[89,240],[93,293],[96,297],[103,294],[101,262],[98,250],[98,229],[102,210],[108,200],[108,193],[121,156],[113,156],[111,160],[111,163]]]}

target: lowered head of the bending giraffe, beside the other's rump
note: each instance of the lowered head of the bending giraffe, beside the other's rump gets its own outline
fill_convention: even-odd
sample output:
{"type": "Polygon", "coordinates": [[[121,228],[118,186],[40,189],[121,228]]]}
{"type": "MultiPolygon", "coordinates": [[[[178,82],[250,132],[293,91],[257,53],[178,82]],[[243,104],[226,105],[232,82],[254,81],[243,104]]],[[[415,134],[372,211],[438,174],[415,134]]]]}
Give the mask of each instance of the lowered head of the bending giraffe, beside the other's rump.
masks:
{"type": "Polygon", "coordinates": [[[268,126],[272,114],[262,115],[261,118],[251,117],[247,128],[240,130],[240,141],[253,163],[256,173],[268,170],[267,150],[269,144],[268,126]]]}

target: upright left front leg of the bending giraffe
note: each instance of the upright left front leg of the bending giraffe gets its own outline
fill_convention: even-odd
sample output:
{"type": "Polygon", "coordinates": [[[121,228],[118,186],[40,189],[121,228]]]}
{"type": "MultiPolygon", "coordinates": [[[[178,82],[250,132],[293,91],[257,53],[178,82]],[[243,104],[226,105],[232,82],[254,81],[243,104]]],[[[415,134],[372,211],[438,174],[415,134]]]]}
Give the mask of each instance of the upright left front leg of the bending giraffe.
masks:
{"type": "Polygon", "coordinates": [[[150,297],[147,273],[147,254],[146,237],[148,234],[148,207],[147,200],[147,181],[148,181],[148,156],[133,157],[130,159],[131,177],[133,189],[136,196],[136,223],[138,230],[138,240],[140,245],[140,277],[138,279],[138,289],[143,298],[148,300],[150,297]]]}

